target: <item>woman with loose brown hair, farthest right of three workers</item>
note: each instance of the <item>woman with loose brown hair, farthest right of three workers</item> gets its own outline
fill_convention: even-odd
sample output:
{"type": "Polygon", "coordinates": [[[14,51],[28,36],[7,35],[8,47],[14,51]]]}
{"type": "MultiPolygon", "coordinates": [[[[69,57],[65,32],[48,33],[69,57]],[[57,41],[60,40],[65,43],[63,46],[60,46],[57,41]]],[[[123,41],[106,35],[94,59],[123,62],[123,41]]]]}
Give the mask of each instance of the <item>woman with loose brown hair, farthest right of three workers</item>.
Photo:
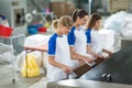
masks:
{"type": "Polygon", "coordinates": [[[88,24],[86,25],[87,31],[87,53],[92,55],[94,57],[102,57],[101,52],[106,52],[109,55],[112,53],[102,48],[100,43],[101,36],[98,33],[101,24],[101,16],[98,13],[91,14],[88,24]]]}

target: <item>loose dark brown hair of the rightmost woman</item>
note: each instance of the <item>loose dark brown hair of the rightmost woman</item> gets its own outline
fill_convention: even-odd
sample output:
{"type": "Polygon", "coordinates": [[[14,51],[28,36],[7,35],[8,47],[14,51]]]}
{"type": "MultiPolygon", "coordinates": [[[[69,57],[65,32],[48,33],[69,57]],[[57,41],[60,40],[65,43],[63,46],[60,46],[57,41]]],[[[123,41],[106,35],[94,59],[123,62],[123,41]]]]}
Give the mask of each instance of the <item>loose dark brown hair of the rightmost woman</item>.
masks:
{"type": "Polygon", "coordinates": [[[96,25],[96,22],[98,20],[101,20],[101,15],[98,14],[98,13],[92,13],[91,16],[90,16],[90,19],[89,19],[89,22],[87,24],[87,29],[94,28],[96,25]]]}

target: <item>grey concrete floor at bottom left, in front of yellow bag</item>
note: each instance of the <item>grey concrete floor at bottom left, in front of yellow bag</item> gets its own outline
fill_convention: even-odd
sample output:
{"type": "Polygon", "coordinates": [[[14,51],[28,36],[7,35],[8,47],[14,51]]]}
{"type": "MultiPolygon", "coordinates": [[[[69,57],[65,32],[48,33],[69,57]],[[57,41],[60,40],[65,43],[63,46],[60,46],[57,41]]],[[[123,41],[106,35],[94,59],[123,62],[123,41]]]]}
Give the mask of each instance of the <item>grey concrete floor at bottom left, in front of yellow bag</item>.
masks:
{"type": "Polygon", "coordinates": [[[32,86],[34,84],[38,82],[43,77],[45,77],[45,75],[42,74],[40,77],[23,78],[20,73],[14,73],[15,75],[13,77],[13,69],[11,65],[0,64],[0,88],[33,88],[32,86]],[[15,82],[13,82],[13,78],[15,79],[15,82]]]}

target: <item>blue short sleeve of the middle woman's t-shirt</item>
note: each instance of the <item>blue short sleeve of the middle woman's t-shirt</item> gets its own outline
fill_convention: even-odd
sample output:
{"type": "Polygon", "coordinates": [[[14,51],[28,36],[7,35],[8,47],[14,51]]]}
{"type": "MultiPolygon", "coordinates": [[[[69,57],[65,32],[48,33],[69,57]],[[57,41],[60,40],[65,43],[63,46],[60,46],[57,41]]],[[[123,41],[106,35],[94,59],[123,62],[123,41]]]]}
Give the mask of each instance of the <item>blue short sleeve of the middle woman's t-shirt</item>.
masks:
{"type": "Polygon", "coordinates": [[[74,34],[74,31],[75,31],[75,26],[73,26],[70,32],[68,33],[68,44],[70,46],[75,45],[75,34],[74,34]]]}

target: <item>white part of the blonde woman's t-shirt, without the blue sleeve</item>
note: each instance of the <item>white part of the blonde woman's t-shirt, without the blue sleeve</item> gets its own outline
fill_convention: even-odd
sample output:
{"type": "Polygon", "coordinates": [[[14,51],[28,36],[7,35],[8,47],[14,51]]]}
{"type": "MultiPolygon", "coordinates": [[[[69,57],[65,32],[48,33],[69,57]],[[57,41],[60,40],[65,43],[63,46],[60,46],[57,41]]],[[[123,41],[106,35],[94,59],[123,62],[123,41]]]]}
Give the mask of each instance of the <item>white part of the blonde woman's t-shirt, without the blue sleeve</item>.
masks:
{"type": "MultiPolygon", "coordinates": [[[[70,52],[66,35],[63,35],[62,37],[57,36],[56,38],[55,61],[72,66],[70,52]]],[[[61,80],[67,77],[63,69],[50,64],[47,67],[47,78],[50,81],[61,80]]]]}

